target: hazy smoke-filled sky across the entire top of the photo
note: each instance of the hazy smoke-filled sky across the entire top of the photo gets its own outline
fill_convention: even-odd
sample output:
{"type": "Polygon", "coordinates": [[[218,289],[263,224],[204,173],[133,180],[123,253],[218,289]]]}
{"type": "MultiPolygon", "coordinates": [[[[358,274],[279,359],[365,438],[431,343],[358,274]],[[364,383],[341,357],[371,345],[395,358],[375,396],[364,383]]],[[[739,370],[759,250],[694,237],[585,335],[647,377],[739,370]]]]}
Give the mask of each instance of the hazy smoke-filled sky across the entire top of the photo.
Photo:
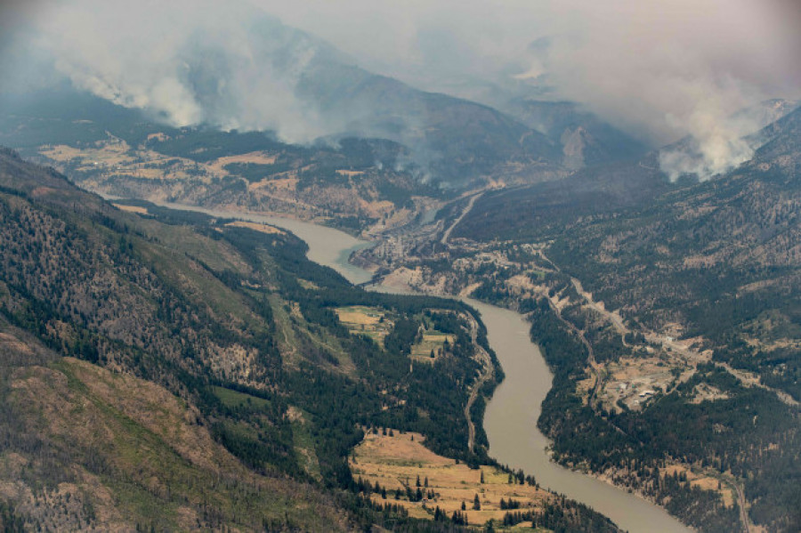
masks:
{"type": "Polygon", "coordinates": [[[336,126],[294,92],[315,44],[293,55],[295,69],[259,63],[263,43],[240,31],[255,12],[425,90],[501,108],[521,97],[577,101],[653,146],[690,135],[700,173],[749,156],[741,136],[756,125],[733,113],[801,97],[796,0],[32,0],[0,9],[0,68],[14,73],[3,90],[68,77],[174,124],[212,117],[289,141],[336,126]],[[217,91],[237,102],[198,99],[182,76],[192,61],[220,61],[214,46],[236,60],[217,91]]]}

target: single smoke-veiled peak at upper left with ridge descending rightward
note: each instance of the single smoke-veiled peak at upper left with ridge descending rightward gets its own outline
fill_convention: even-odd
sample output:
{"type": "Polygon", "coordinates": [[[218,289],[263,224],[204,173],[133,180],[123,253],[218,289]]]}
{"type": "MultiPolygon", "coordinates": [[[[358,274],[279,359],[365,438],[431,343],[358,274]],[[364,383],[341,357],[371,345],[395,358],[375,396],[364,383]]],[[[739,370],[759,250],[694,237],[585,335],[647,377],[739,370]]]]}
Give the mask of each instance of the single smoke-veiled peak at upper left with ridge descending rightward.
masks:
{"type": "MultiPolygon", "coordinates": [[[[376,75],[316,36],[258,10],[237,9],[244,12],[235,28],[176,32],[169,61],[154,59],[158,68],[136,84],[85,56],[60,65],[79,90],[140,109],[156,123],[272,132],[303,145],[385,139],[408,149],[400,165],[453,187],[515,174],[520,166],[525,171],[516,174],[529,180],[558,170],[554,143],[497,109],[376,75]]],[[[15,105],[4,102],[5,112],[13,114],[15,105]]],[[[4,142],[20,146],[14,141],[4,142]]]]}

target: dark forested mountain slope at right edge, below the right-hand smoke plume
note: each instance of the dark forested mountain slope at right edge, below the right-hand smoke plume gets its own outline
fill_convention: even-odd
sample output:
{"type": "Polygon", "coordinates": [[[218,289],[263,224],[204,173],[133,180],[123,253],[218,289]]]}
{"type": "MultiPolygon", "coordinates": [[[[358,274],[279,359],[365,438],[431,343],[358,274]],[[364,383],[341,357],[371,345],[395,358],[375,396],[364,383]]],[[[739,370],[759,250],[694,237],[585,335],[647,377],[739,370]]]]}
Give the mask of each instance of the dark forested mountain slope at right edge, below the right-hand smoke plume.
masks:
{"type": "Polygon", "coordinates": [[[676,322],[717,357],[801,400],[801,174],[796,111],[728,176],[611,220],[578,223],[554,260],[650,327],[676,322]]]}

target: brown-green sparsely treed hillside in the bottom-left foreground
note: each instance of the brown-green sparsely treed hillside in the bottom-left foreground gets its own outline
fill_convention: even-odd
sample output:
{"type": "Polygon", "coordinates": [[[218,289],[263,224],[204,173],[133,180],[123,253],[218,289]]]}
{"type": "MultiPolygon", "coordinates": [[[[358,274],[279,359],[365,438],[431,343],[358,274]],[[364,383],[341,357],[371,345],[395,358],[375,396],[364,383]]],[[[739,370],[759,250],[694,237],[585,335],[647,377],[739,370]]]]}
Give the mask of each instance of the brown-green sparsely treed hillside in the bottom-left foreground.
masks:
{"type": "Polygon", "coordinates": [[[164,388],[3,329],[0,497],[26,528],[350,529],[332,498],[248,469],[164,388]]]}

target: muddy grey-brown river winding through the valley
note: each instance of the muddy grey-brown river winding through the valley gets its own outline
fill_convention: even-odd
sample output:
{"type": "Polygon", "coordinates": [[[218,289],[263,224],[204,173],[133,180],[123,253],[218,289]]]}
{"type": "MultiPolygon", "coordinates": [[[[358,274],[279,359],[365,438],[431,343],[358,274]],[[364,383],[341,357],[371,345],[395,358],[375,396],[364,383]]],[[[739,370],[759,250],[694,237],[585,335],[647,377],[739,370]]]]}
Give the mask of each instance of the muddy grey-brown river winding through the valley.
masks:
{"type": "MultiPolygon", "coordinates": [[[[333,268],[352,283],[364,283],[372,278],[370,272],[348,262],[354,250],[369,246],[369,243],[342,231],[274,216],[163,205],[219,217],[270,223],[302,238],[309,246],[309,259],[333,268]]],[[[377,287],[377,290],[398,292],[392,287],[377,287]]],[[[552,375],[538,346],[530,341],[530,326],[514,311],[471,299],[465,302],[481,313],[490,345],[506,374],[484,415],[490,455],[515,470],[522,469],[534,475],[542,487],[593,507],[630,533],[689,533],[691,529],[661,507],[603,481],[562,468],[550,460],[546,452],[549,442],[539,432],[537,419],[540,405],[551,389],[552,375]]]]}

